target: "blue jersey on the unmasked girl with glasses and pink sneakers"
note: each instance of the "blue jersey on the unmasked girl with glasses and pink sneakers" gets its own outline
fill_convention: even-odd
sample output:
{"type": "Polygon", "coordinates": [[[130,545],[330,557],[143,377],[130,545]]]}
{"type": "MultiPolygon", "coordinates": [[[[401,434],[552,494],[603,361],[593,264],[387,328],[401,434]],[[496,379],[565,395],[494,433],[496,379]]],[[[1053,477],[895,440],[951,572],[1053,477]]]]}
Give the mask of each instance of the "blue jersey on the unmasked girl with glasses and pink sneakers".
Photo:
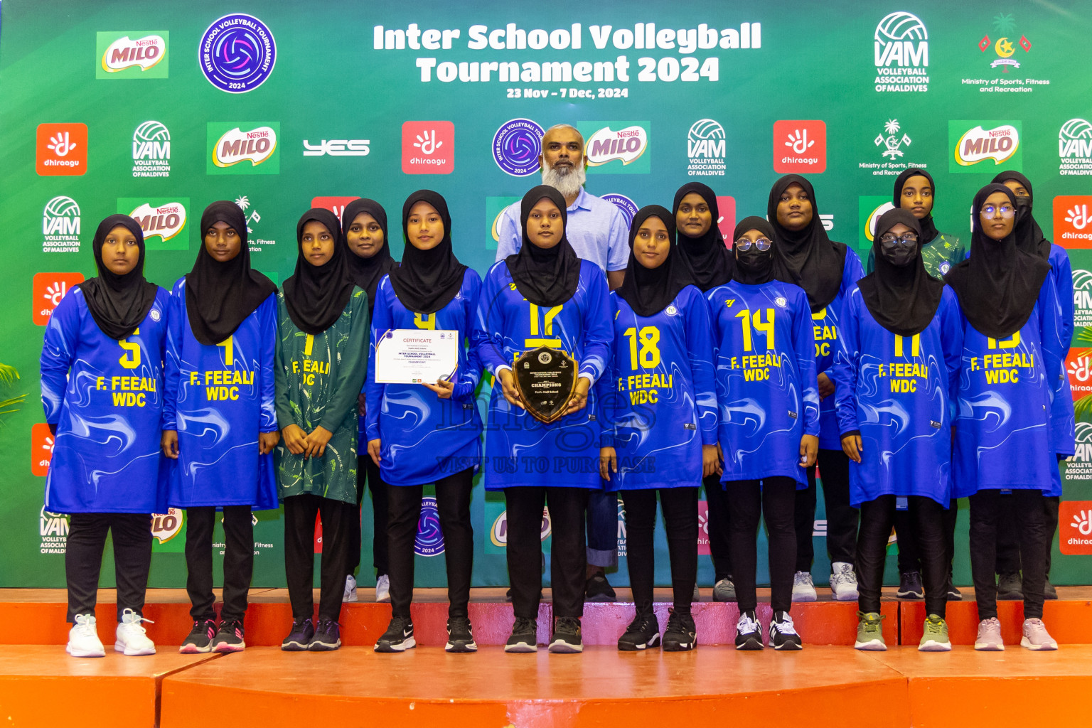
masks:
{"type": "Polygon", "coordinates": [[[953,497],[987,488],[1060,496],[1051,428],[1059,389],[1061,317],[1047,276],[1028,322],[995,339],[963,318],[963,356],[952,449],[953,497]]]}

